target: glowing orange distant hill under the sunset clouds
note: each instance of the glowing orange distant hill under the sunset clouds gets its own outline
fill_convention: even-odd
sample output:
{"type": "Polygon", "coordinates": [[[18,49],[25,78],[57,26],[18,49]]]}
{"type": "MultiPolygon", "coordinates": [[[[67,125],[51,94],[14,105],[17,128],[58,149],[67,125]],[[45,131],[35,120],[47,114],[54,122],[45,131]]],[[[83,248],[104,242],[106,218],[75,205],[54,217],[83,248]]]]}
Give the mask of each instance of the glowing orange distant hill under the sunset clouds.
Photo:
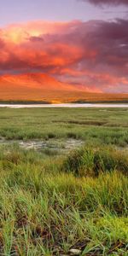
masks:
{"type": "Polygon", "coordinates": [[[44,73],[0,76],[1,101],[101,102],[127,101],[128,94],[103,94],[66,84],[44,73]]]}

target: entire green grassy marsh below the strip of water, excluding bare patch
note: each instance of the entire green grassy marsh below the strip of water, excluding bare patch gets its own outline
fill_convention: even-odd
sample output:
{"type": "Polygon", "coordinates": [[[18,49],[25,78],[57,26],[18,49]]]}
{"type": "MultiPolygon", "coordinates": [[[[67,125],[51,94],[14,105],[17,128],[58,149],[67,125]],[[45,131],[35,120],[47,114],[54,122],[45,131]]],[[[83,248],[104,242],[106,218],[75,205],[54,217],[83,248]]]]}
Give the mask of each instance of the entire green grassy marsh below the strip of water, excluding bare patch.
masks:
{"type": "Polygon", "coordinates": [[[128,255],[128,110],[0,108],[0,255],[128,255]],[[54,154],[55,153],[55,154],[54,154]]]}

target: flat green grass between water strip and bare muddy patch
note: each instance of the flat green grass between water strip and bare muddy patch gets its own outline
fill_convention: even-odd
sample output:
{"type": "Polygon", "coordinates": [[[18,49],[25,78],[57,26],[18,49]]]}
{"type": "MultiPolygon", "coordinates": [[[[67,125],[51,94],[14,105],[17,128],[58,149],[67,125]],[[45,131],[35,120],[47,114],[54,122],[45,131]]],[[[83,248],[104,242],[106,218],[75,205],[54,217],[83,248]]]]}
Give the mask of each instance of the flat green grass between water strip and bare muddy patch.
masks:
{"type": "Polygon", "coordinates": [[[0,108],[7,139],[76,138],[86,143],[128,144],[128,110],[102,108],[0,108]]]}

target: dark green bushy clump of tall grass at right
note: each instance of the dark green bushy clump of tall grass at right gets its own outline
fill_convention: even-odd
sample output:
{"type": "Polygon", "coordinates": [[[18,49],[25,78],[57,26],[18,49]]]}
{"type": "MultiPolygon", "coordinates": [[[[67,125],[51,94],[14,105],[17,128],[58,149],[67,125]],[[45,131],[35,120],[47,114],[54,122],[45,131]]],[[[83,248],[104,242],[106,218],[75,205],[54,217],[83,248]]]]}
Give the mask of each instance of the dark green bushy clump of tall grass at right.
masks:
{"type": "Polygon", "coordinates": [[[127,175],[128,159],[125,152],[114,148],[81,148],[67,156],[62,169],[76,176],[97,177],[101,172],[114,170],[127,175]]]}

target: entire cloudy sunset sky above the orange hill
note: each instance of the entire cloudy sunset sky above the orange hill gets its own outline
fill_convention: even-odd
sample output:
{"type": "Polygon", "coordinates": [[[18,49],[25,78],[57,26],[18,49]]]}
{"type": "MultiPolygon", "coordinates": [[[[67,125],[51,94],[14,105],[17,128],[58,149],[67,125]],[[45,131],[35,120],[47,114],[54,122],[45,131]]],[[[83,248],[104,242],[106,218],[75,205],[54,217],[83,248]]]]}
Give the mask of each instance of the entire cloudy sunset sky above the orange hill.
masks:
{"type": "Polygon", "coordinates": [[[128,0],[0,0],[0,76],[128,93],[128,0]]]}

